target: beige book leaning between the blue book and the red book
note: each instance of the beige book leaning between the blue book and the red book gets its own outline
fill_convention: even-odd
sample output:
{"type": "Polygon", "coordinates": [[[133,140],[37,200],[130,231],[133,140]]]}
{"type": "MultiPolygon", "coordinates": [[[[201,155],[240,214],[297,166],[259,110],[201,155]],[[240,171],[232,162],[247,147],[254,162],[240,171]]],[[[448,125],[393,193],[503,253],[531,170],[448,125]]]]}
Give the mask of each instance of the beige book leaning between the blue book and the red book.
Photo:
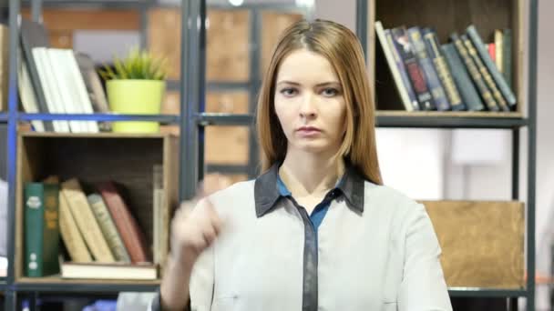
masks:
{"type": "Polygon", "coordinates": [[[130,263],[131,260],[128,256],[127,249],[125,249],[125,246],[123,245],[121,236],[119,236],[118,229],[109,215],[108,207],[105,205],[102,196],[98,194],[91,194],[87,196],[87,199],[94,216],[97,218],[102,234],[104,234],[104,237],[108,241],[109,249],[116,257],[116,260],[130,263]]]}

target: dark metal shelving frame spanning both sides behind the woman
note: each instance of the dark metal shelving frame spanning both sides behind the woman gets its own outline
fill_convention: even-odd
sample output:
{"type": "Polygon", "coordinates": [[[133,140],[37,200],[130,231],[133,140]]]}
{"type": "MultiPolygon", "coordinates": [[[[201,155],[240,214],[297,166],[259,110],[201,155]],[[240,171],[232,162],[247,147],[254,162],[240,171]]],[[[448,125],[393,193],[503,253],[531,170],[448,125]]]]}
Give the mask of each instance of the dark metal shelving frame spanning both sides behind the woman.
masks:
{"type": "MultiPolygon", "coordinates": [[[[383,1],[383,0],[381,0],[383,1]]],[[[63,6],[67,4],[74,5],[113,5],[110,7],[146,7],[152,5],[149,1],[67,1],[56,0],[48,1],[48,5],[63,6]]],[[[10,38],[17,38],[16,29],[17,14],[20,11],[20,1],[10,0],[10,38]]],[[[183,20],[196,21],[203,20],[206,16],[206,1],[185,1],[181,5],[181,15],[183,20]]],[[[33,16],[40,15],[40,1],[32,2],[33,16]]],[[[375,3],[371,0],[357,0],[358,11],[356,13],[356,28],[361,36],[361,41],[368,55],[372,55],[371,47],[374,46],[374,10],[375,3]],[[367,43],[370,44],[367,44],[367,43]],[[370,48],[367,48],[370,46],[370,48]]],[[[537,10],[538,0],[529,1],[529,32],[528,32],[528,98],[525,101],[528,108],[528,116],[524,117],[522,111],[513,114],[483,114],[483,113],[413,113],[379,111],[377,113],[377,126],[380,127],[405,127],[405,128],[501,128],[512,131],[513,142],[513,163],[512,163],[512,198],[518,199],[519,186],[519,135],[523,127],[528,129],[528,198],[527,198],[527,236],[528,245],[527,270],[535,270],[535,161],[536,158],[536,115],[537,115],[537,10]]],[[[194,23],[193,25],[197,25],[194,23]]],[[[17,82],[15,75],[15,46],[14,39],[10,44],[10,78],[9,78],[9,112],[0,113],[0,122],[8,124],[8,183],[15,185],[15,156],[16,156],[16,127],[20,121],[30,120],[94,120],[94,121],[159,121],[164,124],[180,125],[180,181],[179,198],[187,199],[194,195],[198,181],[204,175],[202,150],[204,127],[208,125],[251,125],[253,115],[227,115],[227,114],[209,114],[202,112],[203,98],[207,89],[211,90],[229,90],[246,89],[255,94],[259,86],[259,75],[251,75],[249,83],[224,83],[224,82],[205,82],[205,28],[204,25],[198,27],[186,27],[183,23],[181,28],[181,50],[180,71],[183,75],[190,78],[181,81],[169,81],[169,89],[180,90],[180,106],[182,107],[180,115],[43,115],[43,114],[24,114],[17,112],[17,82]],[[185,43],[188,43],[185,44],[185,43]],[[258,80],[256,80],[258,79],[258,80]]],[[[252,36],[256,35],[257,30],[252,30],[252,36]]],[[[16,40],[16,39],[15,39],[16,40]]],[[[145,39],[142,40],[146,42],[145,39]]],[[[256,58],[260,55],[251,55],[256,58]]],[[[370,58],[371,60],[371,58],[370,58]]],[[[251,67],[251,71],[252,71],[251,67]]],[[[520,93],[521,94],[521,93],[520,93]]],[[[252,97],[251,97],[252,98],[252,97]]],[[[519,98],[519,103],[522,98],[519,98]]],[[[251,107],[252,108],[252,107],[251,107]]],[[[251,135],[251,137],[253,137],[251,135]]],[[[243,167],[242,167],[243,168],[243,167]]],[[[241,169],[242,169],[241,168],[241,169]]],[[[221,169],[218,166],[211,166],[211,169],[221,169]]],[[[208,167],[210,170],[210,166],[208,167]]],[[[9,192],[9,219],[15,219],[15,190],[10,188],[9,192]]],[[[10,224],[13,224],[10,222],[10,224]]],[[[15,227],[10,226],[8,233],[8,257],[13,260],[15,254],[15,245],[13,243],[15,236],[15,227]]],[[[118,291],[154,291],[158,284],[152,283],[111,283],[102,284],[97,282],[26,282],[26,279],[20,279],[15,283],[13,263],[10,260],[8,277],[5,281],[0,280],[0,290],[5,291],[5,310],[15,310],[17,306],[17,294],[25,292],[68,292],[68,293],[115,293],[118,291]]],[[[491,288],[473,288],[473,287],[452,287],[449,288],[450,296],[472,296],[472,297],[526,297],[528,299],[528,309],[534,309],[534,278],[529,277],[527,286],[520,290],[491,289],[491,288]]]]}

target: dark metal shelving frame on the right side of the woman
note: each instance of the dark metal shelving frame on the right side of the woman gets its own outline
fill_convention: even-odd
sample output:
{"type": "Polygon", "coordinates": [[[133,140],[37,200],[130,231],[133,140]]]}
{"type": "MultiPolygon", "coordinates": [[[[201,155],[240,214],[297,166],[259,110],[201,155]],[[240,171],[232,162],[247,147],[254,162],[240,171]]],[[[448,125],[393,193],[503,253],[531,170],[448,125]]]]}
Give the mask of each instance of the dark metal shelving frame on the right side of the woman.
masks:
{"type": "MultiPolygon", "coordinates": [[[[376,125],[379,127],[406,128],[496,128],[510,130],[512,134],[512,167],[511,199],[521,200],[519,196],[520,176],[520,135],[527,127],[528,160],[527,160],[527,215],[526,215],[526,271],[525,288],[449,288],[452,297],[505,297],[510,299],[510,308],[518,307],[517,298],[526,298],[526,309],[535,310],[535,199],[536,199],[536,158],[537,158],[537,35],[539,0],[528,1],[528,106],[527,117],[457,117],[426,115],[378,115],[376,125]]],[[[361,41],[366,45],[368,3],[367,0],[356,0],[356,31],[363,35],[361,41]]]]}

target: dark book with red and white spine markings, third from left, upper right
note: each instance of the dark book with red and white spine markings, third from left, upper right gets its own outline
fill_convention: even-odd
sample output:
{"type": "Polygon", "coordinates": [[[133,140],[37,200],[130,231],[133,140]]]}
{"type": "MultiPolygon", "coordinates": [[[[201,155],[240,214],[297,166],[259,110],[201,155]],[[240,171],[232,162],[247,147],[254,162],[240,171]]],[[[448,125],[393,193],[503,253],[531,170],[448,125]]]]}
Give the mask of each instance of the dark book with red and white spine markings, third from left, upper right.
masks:
{"type": "Polygon", "coordinates": [[[412,86],[414,86],[419,110],[436,110],[435,101],[427,88],[426,78],[420,65],[417,63],[417,58],[415,58],[413,47],[410,44],[405,28],[394,28],[391,30],[391,33],[395,40],[396,50],[404,62],[405,71],[412,82],[412,86]]]}

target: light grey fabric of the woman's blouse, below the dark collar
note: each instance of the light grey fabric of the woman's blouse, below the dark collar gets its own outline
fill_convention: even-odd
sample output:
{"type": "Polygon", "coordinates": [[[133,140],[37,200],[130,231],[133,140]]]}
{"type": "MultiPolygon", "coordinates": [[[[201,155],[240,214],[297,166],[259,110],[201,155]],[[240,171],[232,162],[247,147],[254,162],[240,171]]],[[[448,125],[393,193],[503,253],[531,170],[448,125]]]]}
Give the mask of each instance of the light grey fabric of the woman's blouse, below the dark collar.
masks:
{"type": "Polygon", "coordinates": [[[224,227],[193,267],[192,310],[452,310],[425,206],[348,168],[316,232],[277,172],[210,196],[224,227]]]}

